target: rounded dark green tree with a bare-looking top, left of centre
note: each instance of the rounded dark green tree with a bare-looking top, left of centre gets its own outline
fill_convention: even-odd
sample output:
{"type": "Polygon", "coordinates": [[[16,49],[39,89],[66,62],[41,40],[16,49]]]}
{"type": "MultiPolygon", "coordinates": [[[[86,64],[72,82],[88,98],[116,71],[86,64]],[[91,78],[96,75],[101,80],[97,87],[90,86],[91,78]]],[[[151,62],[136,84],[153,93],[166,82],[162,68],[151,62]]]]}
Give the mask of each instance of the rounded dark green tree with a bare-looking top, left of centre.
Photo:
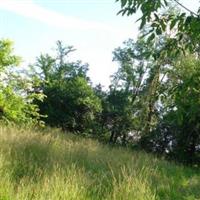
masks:
{"type": "Polygon", "coordinates": [[[74,48],[57,42],[56,55],[41,55],[37,58],[35,71],[43,82],[39,88],[46,98],[39,102],[41,114],[47,115],[45,122],[76,133],[92,132],[92,120],[101,110],[87,76],[88,65],[81,61],[69,62],[74,48]]]}

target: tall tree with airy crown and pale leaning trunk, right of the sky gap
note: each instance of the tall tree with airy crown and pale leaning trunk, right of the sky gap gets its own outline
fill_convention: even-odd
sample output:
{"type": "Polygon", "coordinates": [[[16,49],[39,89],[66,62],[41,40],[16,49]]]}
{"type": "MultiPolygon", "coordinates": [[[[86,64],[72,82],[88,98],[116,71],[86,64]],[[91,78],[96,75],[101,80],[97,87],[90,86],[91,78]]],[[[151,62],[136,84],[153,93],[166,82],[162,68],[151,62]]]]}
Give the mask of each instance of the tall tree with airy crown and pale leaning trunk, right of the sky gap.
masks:
{"type": "Polygon", "coordinates": [[[113,75],[115,87],[129,93],[134,115],[134,130],[148,134],[156,125],[157,105],[161,82],[168,60],[161,60],[165,40],[153,44],[144,38],[128,40],[123,48],[114,51],[114,60],[120,65],[113,75]]]}

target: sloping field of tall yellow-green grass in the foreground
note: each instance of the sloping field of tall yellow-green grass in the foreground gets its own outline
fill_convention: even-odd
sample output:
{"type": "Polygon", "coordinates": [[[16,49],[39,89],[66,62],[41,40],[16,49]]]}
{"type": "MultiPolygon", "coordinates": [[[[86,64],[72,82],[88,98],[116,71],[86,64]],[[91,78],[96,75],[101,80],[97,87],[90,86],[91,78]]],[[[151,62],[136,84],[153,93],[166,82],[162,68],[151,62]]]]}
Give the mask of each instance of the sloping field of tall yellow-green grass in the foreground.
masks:
{"type": "Polygon", "coordinates": [[[200,200],[200,173],[58,130],[0,128],[0,200],[200,200]]]}

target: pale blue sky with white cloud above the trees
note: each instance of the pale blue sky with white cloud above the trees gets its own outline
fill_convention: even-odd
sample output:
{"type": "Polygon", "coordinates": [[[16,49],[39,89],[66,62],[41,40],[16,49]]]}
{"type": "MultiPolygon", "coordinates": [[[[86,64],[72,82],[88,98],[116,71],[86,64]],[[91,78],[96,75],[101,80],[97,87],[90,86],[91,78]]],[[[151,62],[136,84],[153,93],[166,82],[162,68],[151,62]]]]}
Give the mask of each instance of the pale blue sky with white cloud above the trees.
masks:
{"type": "MultiPolygon", "coordinates": [[[[181,2],[198,7],[198,0],[181,2]]],[[[23,66],[41,53],[53,53],[55,42],[62,40],[77,49],[73,60],[89,64],[92,82],[107,87],[118,67],[112,62],[113,50],[138,35],[139,15],[122,17],[119,10],[115,0],[0,0],[0,39],[15,42],[23,66]]]]}

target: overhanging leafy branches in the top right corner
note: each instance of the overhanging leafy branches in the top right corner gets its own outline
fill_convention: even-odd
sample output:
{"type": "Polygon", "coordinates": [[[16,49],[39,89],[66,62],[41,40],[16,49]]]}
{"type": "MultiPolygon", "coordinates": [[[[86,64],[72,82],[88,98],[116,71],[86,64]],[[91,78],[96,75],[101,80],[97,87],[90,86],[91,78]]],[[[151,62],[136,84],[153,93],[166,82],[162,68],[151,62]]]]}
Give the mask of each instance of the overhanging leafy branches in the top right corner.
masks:
{"type": "MultiPolygon", "coordinates": [[[[198,12],[189,10],[178,0],[117,0],[121,2],[122,15],[132,15],[138,10],[142,16],[140,21],[140,30],[148,24],[149,30],[146,33],[149,39],[152,40],[156,36],[163,33],[173,32],[168,38],[166,49],[168,53],[178,53],[183,49],[199,49],[200,40],[200,8],[198,12]],[[173,5],[179,6],[182,10],[176,12],[170,11],[173,5]],[[169,10],[163,12],[163,10],[169,10]]],[[[174,10],[174,9],[173,9],[174,10]]]]}

